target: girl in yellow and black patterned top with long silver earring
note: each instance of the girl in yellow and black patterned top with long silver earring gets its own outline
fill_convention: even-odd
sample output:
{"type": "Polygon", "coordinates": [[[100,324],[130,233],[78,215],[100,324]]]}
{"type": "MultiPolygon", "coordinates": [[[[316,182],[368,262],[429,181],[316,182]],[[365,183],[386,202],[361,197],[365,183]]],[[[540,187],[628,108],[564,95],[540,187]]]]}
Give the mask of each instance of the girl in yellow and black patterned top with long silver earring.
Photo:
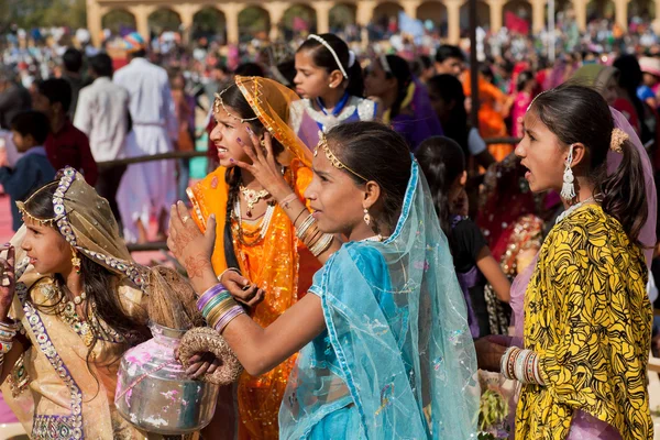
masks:
{"type": "Polygon", "coordinates": [[[539,95],[524,130],[516,155],[530,189],[561,191],[566,210],[512,286],[518,346],[490,344],[506,352],[482,359],[520,384],[516,439],[650,439],[650,162],[622,114],[591,88],[539,95]]]}

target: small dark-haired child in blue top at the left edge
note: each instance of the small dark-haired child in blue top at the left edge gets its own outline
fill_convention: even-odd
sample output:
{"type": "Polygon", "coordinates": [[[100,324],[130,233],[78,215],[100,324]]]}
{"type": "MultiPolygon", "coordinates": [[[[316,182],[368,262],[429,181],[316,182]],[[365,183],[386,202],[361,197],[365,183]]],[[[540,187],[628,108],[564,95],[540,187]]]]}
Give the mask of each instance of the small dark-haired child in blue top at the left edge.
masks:
{"type": "Polygon", "coordinates": [[[13,168],[9,163],[0,167],[0,185],[11,199],[12,228],[18,231],[23,221],[18,200],[24,200],[32,191],[55,177],[55,169],[46,157],[44,141],[48,135],[48,120],[37,111],[19,113],[11,121],[13,143],[23,156],[13,168]]]}

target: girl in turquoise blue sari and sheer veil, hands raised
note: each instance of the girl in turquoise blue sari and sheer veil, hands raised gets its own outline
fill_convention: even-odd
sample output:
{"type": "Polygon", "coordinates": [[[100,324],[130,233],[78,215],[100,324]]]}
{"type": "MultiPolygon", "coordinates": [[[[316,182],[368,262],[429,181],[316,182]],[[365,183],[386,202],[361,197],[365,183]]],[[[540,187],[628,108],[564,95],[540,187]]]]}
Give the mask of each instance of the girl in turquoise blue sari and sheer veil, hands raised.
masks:
{"type": "MultiPolygon", "coordinates": [[[[267,136],[264,144],[245,148],[253,164],[238,166],[287,210],[290,187],[267,136]]],[[[173,207],[170,249],[202,294],[210,326],[253,375],[301,349],[279,411],[283,439],[474,438],[479,386],[465,301],[406,142],[380,123],[342,124],[321,136],[312,169],[305,197],[314,213],[298,208],[298,235],[348,240],[309,294],[267,328],[215,294],[222,290],[210,264],[215,220],[202,235],[182,204],[173,207]]],[[[207,356],[196,359],[194,377],[210,366],[207,356]]]]}

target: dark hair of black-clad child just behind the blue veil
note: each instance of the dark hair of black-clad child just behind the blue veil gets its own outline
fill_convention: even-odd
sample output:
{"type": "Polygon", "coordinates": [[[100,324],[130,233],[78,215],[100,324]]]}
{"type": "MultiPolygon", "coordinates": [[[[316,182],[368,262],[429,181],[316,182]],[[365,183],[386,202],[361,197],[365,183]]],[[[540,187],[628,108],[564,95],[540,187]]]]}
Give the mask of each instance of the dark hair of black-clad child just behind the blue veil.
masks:
{"type": "MultiPolygon", "coordinates": [[[[415,157],[429,184],[442,232],[451,239],[449,193],[457,178],[465,172],[463,148],[449,138],[432,136],[419,144],[415,157]]],[[[453,249],[451,240],[450,248],[453,249]]]]}

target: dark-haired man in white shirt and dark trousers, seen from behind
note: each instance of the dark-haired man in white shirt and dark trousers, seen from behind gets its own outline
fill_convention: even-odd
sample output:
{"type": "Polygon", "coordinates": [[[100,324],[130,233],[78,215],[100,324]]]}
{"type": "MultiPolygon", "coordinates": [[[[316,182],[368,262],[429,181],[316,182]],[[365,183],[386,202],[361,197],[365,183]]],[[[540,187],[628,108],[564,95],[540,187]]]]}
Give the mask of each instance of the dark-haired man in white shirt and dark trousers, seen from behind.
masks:
{"type": "MultiPolygon", "coordinates": [[[[112,58],[99,54],[89,58],[94,82],[80,90],[74,125],[89,138],[95,161],[107,162],[125,157],[127,136],[131,131],[129,91],[112,82],[112,58]]],[[[117,189],[125,165],[99,166],[97,193],[110,204],[117,221],[117,189]]]]}

